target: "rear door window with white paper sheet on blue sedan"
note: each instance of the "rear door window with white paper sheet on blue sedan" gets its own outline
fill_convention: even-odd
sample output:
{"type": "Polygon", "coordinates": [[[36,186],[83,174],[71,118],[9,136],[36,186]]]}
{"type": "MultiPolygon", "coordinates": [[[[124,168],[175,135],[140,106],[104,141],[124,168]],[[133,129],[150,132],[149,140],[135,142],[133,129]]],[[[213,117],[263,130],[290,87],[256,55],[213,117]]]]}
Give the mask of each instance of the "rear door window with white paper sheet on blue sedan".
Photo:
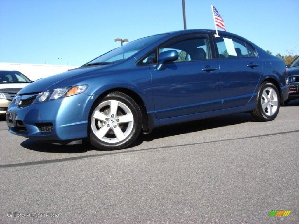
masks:
{"type": "Polygon", "coordinates": [[[219,58],[255,57],[253,48],[237,38],[221,36],[216,38],[219,58]]]}

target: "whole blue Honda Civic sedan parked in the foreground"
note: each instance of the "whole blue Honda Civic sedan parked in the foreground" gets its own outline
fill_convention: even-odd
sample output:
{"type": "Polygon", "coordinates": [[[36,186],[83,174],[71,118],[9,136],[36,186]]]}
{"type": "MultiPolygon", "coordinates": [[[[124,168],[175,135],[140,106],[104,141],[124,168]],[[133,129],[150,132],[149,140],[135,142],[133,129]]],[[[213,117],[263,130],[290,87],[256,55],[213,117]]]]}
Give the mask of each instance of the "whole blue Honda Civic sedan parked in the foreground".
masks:
{"type": "Polygon", "coordinates": [[[232,113],[271,121],[288,99],[284,62],[228,32],[184,30],[138,39],[37,80],[8,108],[12,134],[100,150],[153,128],[232,113]]]}

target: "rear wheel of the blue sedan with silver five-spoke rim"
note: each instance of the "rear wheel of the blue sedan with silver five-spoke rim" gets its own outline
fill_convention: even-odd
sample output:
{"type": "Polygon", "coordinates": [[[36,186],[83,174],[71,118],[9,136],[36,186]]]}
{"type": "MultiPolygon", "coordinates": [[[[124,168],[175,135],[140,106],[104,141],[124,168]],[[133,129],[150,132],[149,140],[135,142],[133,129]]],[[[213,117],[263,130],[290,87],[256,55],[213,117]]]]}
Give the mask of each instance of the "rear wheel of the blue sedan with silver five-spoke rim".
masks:
{"type": "Polygon", "coordinates": [[[260,85],[256,99],[256,109],[252,111],[254,118],[260,121],[274,120],[280,108],[280,96],[275,85],[264,82],[260,85]]]}

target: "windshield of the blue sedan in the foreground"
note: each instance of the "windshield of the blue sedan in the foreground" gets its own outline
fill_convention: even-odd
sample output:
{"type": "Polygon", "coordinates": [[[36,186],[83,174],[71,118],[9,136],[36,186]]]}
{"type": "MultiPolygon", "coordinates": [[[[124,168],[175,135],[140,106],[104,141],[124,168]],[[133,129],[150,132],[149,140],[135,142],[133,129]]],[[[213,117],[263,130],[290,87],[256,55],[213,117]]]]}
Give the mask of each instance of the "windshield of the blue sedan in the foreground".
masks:
{"type": "Polygon", "coordinates": [[[117,62],[121,62],[133,54],[137,53],[138,51],[142,50],[144,47],[147,47],[152,42],[155,42],[165,34],[159,34],[155,36],[148,36],[144,37],[132,42],[127,43],[121,47],[118,47],[112,51],[109,51],[102,56],[97,57],[96,59],[92,60],[91,62],[86,63],[83,66],[88,65],[107,65],[107,64],[114,64],[117,62]]]}

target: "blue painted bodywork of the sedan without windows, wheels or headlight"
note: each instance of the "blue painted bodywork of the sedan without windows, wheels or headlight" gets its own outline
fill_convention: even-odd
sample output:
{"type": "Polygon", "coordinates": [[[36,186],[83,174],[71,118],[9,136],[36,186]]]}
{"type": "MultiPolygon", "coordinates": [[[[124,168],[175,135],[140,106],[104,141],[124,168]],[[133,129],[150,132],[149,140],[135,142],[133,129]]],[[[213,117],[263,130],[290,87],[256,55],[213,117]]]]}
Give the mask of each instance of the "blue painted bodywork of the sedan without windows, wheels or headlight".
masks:
{"type": "MultiPolygon", "coordinates": [[[[94,102],[99,96],[120,89],[132,91],[141,98],[154,126],[251,111],[256,107],[257,89],[267,79],[275,82],[283,99],[287,98],[289,86],[285,82],[284,65],[281,66],[283,62],[245,39],[257,50],[258,57],[218,59],[215,57],[215,48],[211,45],[211,60],[170,62],[164,70],[157,70],[157,65],[136,65],[139,59],[165,41],[197,32],[209,35],[210,41],[213,41],[212,30],[172,32],[123,62],[80,67],[33,82],[19,94],[25,96],[29,93],[74,85],[89,87],[81,94],[24,108],[17,107],[13,102],[9,111],[17,113],[27,132],[14,131],[13,128],[9,131],[42,140],[86,138],[88,118],[94,102]],[[259,66],[247,67],[250,62],[258,63],[259,66]],[[216,67],[217,70],[202,71],[205,66],[216,67]],[[39,122],[52,122],[54,131],[51,134],[39,132],[34,125],[39,122]]],[[[226,34],[228,33],[219,32],[219,35],[226,34]]],[[[234,34],[230,35],[243,39],[234,34]]]]}

